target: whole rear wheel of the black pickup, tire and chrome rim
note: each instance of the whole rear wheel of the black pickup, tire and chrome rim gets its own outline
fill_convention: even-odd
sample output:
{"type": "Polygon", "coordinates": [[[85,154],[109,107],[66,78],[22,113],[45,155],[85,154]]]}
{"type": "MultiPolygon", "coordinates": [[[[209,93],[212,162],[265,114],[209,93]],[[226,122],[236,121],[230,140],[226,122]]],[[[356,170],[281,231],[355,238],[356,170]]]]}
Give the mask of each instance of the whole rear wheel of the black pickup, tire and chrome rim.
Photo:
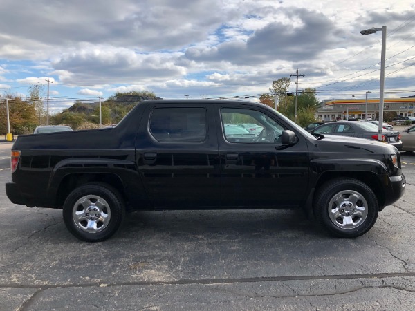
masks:
{"type": "Polygon", "coordinates": [[[101,183],[77,187],[64,202],[63,216],[69,232],[86,242],[104,241],[116,233],[125,209],[116,189],[101,183]]]}

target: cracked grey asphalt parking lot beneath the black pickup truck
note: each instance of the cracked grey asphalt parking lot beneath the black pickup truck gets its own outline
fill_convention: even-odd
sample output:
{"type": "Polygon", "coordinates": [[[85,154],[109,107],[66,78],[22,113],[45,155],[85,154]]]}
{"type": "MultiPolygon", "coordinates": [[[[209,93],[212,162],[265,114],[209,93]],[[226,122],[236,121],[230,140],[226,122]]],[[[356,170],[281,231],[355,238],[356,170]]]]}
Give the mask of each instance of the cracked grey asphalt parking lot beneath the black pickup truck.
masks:
{"type": "Polygon", "coordinates": [[[61,211],[13,205],[0,187],[0,310],[413,310],[415,156],[404,158],[405,195],[351,240],[299,211],[146,211],[84,243],[61,211]]]}

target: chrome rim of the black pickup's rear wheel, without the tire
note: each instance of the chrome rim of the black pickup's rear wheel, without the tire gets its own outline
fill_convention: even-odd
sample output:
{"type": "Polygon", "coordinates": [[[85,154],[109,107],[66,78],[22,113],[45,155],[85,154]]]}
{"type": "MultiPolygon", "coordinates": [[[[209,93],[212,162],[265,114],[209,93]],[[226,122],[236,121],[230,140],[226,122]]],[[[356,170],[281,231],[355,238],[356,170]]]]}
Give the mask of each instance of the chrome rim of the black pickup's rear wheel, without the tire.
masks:
{"type": "Polygon", "coordinates": [[[109,225],[111,209],[104,198],[90,194],[75,202],[72,218],[83,232],[98,233],[109,225]]]}

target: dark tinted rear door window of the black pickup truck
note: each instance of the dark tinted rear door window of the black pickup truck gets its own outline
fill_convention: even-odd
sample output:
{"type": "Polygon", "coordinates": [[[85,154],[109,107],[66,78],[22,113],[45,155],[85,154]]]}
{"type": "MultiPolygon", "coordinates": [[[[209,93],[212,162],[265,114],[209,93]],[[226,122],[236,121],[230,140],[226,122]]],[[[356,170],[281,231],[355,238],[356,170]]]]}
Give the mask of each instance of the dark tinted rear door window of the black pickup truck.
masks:
{"type": "Polygon", "coordinates": [[[159,142],[202,142],[206,138],[204,108],[156,108],[149,129],[159,142]]]}

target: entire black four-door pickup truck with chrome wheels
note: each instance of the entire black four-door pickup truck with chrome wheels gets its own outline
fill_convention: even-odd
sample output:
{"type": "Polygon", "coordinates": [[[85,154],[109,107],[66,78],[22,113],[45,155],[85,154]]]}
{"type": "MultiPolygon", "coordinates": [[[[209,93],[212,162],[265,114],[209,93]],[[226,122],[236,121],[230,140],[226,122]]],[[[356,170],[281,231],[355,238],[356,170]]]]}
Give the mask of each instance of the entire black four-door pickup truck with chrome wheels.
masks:
{"type": "Polygon", "coordinates": [[[311,135],[268,106],[225,100],[145,101],[112,128],[20,135],[11,165],[13,203],[63,209],[91,242],[126,212],[160,209],[304,209],[353,238],[405,191],[395,147],[311,135]]]}

